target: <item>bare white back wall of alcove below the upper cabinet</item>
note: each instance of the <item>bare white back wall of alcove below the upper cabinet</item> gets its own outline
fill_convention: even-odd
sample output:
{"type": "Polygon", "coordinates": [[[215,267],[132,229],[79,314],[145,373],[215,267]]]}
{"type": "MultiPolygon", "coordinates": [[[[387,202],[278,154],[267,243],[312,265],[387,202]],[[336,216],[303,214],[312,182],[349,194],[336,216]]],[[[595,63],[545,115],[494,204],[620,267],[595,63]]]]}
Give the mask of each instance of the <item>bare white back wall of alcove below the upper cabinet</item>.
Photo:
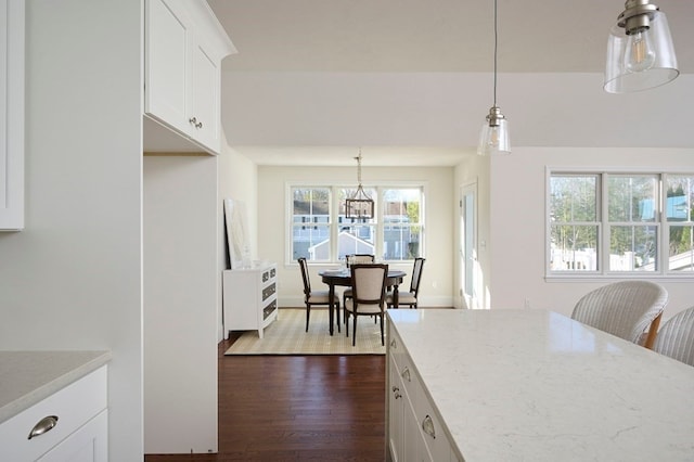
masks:
{"type": "Polygon", "coordinates": [[[144,157],[144,451],[217,451],[217,156],[144,157]]]}

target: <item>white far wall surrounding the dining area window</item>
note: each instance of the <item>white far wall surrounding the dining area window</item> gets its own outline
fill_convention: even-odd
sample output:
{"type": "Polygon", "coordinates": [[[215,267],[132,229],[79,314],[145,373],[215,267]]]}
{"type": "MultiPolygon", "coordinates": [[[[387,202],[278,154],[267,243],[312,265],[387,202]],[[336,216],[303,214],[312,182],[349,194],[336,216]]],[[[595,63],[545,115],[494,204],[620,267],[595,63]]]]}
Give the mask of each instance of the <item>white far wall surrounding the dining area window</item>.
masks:
{"type": "MultiPolygon", "coordinates": [[[[285,265],[285,191],[287,181],[330,181],[351,184],[356,180],[355,168],[321,167],[271,167],[258,168],[258,258],[278,262],[281,307],[304,306],[304,285],[296,261],[285,265]]],[[[452,306],[453,281],[453,219],[451,210],[457,201],[453,191],[453,170],[449,167],[362,168],[364,184],[373,182],[421,181],[426,187],[426,264],[420,286],[420,306],[452,306]]],[[[412,264],[393,265],[410,275],[412,264]]],[[[324,267],[322,267],[324,268],[324,267]]],[[[311,266],[311,285],[320,286],[317,272],[311,266]]],[[[403,283],[409,287],[410,280],[403,283]]]]}

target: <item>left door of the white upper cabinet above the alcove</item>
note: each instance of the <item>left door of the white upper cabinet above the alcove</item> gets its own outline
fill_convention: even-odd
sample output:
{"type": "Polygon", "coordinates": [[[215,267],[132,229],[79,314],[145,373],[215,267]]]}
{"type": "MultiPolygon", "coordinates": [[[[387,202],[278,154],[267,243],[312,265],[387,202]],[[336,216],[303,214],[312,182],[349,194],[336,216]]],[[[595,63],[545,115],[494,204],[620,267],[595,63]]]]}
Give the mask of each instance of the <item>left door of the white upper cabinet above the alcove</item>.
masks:
{"type": "Polygon", "coordinates": [[[146,77],[144,111],[157,120],[189,131],[188,35],[183,20],[163,0],[147,2],[146,77]]]}

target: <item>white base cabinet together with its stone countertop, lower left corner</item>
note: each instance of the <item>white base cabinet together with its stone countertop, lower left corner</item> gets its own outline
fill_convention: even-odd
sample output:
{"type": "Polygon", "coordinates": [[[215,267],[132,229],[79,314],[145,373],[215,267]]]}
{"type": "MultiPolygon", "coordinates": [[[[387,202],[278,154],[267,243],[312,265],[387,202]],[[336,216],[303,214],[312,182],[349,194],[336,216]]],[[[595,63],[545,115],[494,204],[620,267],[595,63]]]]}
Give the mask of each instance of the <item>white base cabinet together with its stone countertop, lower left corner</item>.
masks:
{"type": "Polygon", "coordinates": [[[0,352],[0,460],[106,462],[103,351],[0,352]]]}

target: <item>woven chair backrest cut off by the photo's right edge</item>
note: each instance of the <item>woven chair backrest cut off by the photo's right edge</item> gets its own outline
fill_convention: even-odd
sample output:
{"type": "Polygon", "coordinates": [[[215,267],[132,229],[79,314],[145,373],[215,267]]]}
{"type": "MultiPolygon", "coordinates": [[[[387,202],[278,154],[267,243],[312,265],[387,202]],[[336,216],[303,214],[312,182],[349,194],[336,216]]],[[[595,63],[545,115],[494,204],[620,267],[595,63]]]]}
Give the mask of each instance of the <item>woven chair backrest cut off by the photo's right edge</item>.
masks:
{"type": "Polygon", "coordinates": [[[678,312],[663,324],[653,350],[694,365],[694,307],[678,312]]]}

